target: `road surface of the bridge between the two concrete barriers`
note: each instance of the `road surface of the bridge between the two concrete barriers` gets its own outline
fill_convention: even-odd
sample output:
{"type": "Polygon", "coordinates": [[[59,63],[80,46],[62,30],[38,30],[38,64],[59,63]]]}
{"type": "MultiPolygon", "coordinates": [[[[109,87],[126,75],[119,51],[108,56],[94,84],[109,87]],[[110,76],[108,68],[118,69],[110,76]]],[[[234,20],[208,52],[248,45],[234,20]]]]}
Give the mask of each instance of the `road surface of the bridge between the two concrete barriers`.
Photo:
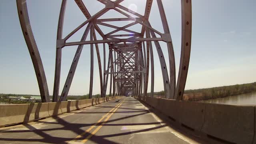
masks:
{"type": "Polygon", "coordinates": [[[134,98],[120,98],[26,125],[0,129],[1,144],[197,143],[162,122],[134,98]]]}

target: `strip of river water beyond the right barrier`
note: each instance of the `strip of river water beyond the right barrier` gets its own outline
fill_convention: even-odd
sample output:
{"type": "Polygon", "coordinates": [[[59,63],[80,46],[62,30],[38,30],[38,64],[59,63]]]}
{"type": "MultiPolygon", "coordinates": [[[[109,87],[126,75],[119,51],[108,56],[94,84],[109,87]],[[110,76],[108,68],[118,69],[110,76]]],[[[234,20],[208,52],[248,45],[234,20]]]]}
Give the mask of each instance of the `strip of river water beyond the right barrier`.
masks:
{"type": "Polygon", "coordinates": [[[256,92],[250,92],[247,94],[240,94],[236,96],[228,96],[225,98],[216,98],[212,100],[203,100],[202,102],[218,104],[256,105],[256,92]]]}

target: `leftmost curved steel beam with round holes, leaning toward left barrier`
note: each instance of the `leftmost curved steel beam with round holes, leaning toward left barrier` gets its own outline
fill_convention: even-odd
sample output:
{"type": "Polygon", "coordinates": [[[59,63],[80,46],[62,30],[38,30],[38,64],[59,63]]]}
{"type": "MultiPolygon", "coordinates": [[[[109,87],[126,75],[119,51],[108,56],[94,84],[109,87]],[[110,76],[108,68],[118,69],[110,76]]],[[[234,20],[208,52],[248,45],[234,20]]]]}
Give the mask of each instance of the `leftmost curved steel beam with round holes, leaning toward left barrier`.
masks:
{"type": "Polygon", "coordinates": [[[26,0],[16,0],[20,26],[34,66],[42,102],[50,102],[44,67],[30,26],[26,0]]]}

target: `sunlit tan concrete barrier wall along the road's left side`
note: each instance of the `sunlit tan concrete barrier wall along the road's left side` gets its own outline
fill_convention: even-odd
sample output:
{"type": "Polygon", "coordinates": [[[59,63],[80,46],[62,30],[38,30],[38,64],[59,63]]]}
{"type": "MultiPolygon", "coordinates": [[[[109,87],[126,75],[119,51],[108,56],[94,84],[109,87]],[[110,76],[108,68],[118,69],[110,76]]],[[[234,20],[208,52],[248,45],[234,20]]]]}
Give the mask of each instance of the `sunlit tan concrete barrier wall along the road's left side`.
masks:
{"type": "MultiPolygon", "coordinates": [[[[114,97],[110,98],[114,99],[114,97]]],[[[57,116],[108,100],[109,98],[92,98],[87,100],[36,104],[2,104],[0,105],[0,127],[10,124],[27,123],[50,116],[57,116]]]]}

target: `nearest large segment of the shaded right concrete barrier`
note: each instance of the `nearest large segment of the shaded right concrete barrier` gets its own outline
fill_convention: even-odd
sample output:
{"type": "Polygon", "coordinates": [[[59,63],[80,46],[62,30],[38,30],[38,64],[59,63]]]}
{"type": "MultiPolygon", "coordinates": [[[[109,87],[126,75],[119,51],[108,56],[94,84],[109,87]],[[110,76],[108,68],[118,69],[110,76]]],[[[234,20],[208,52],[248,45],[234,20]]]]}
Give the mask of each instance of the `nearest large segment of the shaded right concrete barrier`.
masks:
{"type": "Polygon", "coordinates": [[[253,106],[206,105],[202,132],[239,144],[251,144],[254,137],[253,106]]]}

